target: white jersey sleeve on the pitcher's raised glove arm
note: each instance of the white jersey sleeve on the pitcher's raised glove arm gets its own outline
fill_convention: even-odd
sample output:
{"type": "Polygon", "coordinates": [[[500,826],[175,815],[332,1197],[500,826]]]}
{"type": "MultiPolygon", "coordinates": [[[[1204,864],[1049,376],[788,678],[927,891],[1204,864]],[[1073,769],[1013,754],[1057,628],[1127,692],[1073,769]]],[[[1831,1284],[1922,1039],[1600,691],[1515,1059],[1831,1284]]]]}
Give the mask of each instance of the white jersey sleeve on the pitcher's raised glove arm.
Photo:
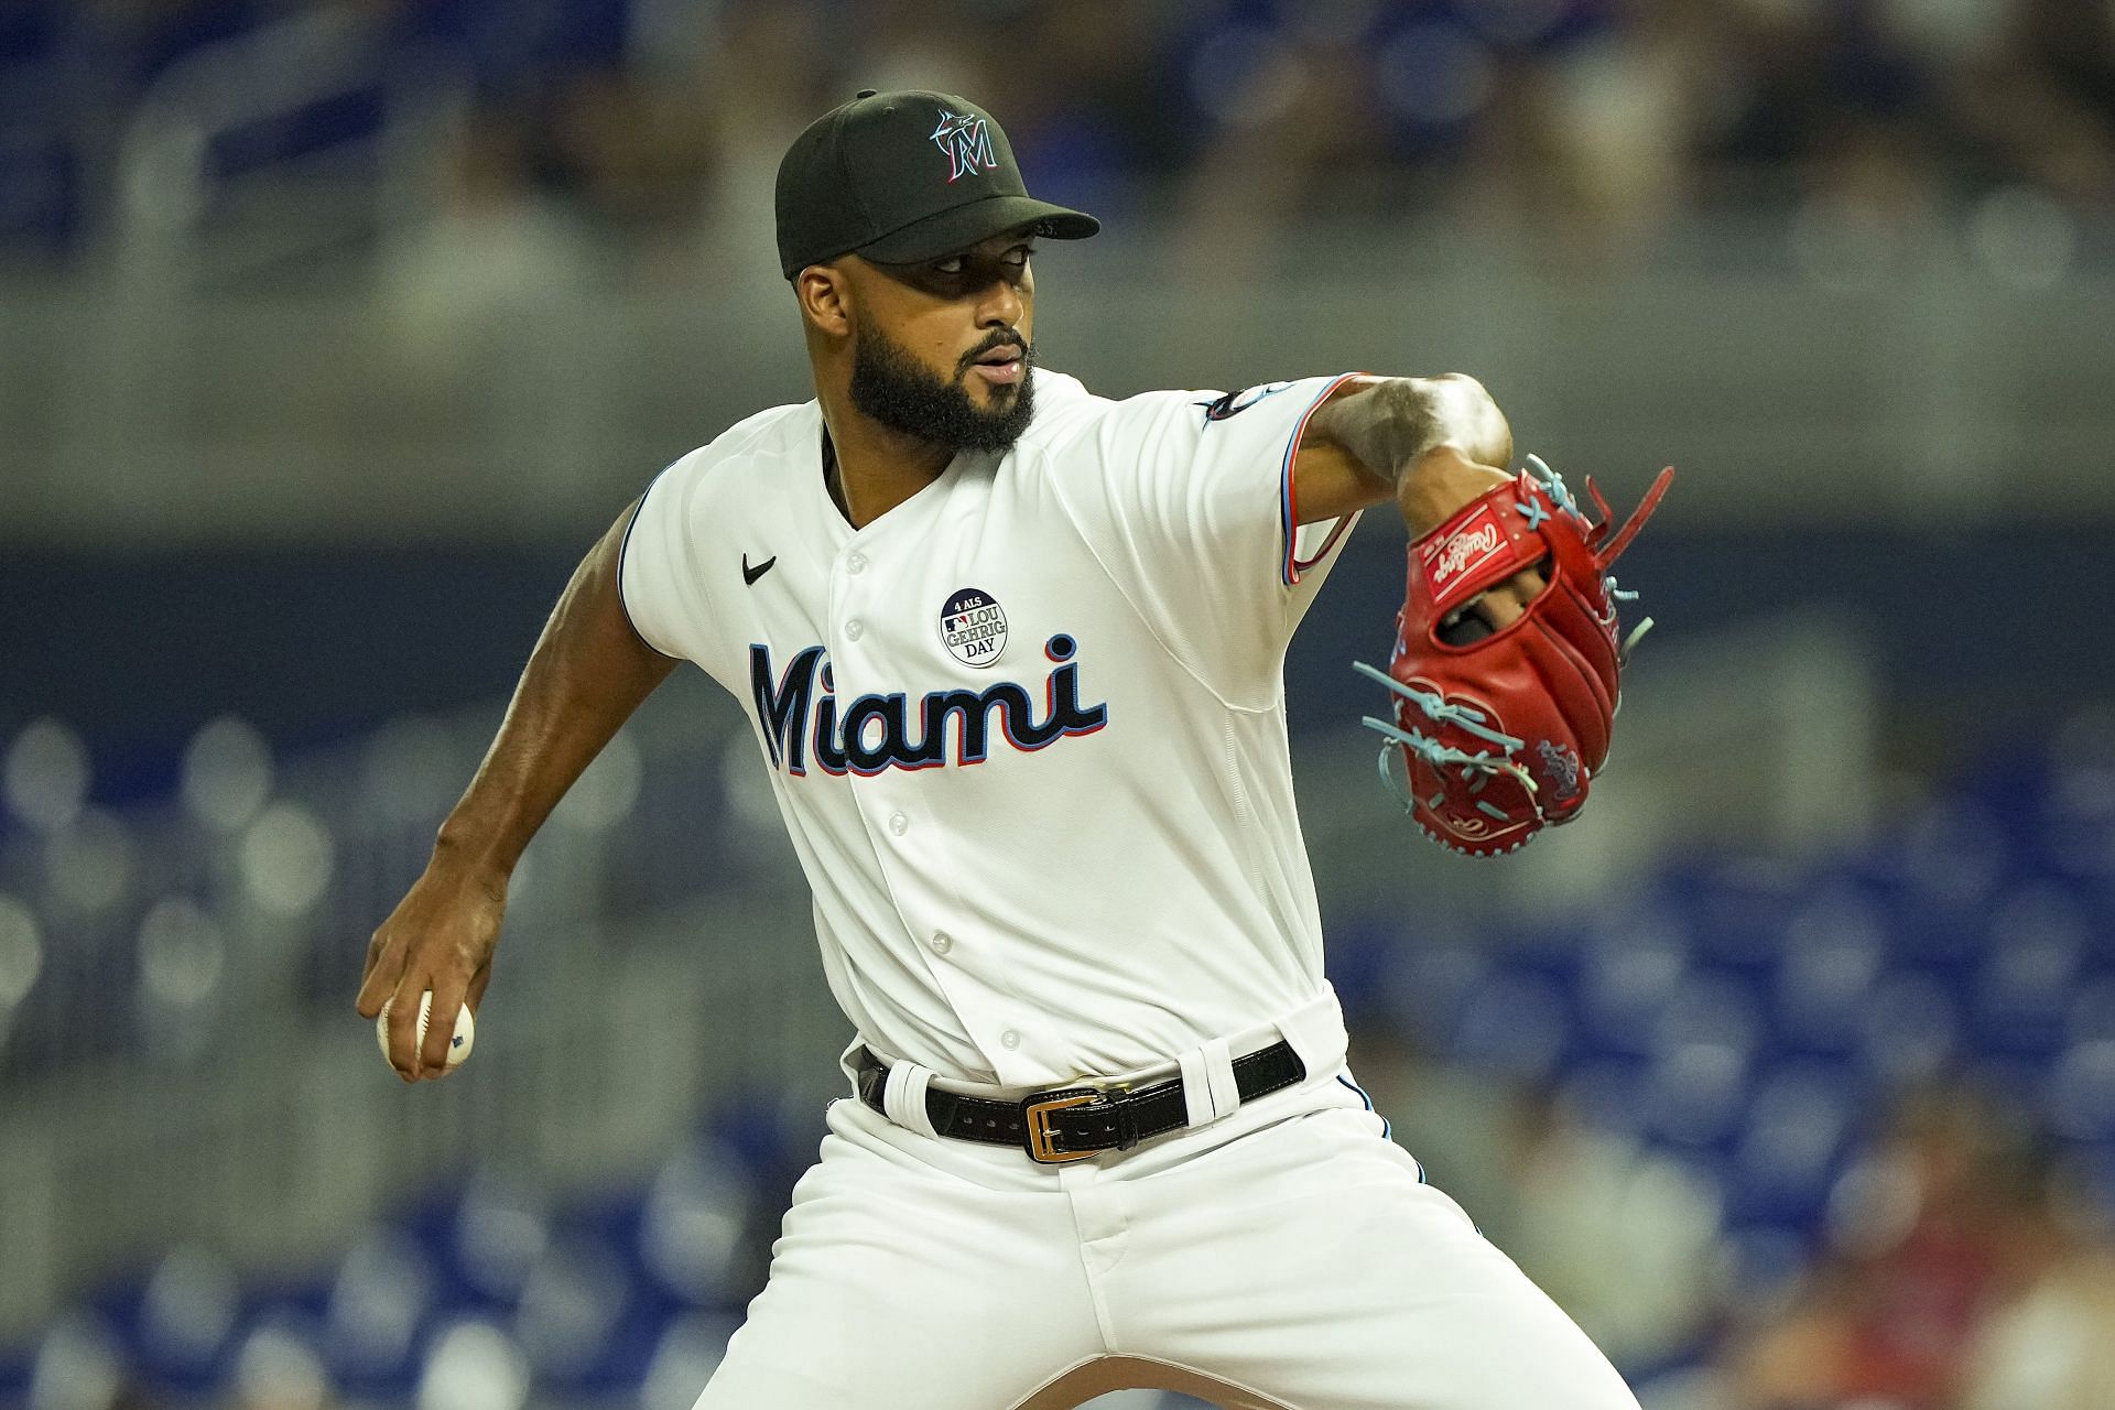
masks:
{"type": "Polygon", "coordinates": [[[1110,404],[1055,450],[1060,499],[1159,641],[1229,704],[1277,700],[1286,645],[1356,514],[1299,524],[1292,459],[1347,378],[1110,404]]]}

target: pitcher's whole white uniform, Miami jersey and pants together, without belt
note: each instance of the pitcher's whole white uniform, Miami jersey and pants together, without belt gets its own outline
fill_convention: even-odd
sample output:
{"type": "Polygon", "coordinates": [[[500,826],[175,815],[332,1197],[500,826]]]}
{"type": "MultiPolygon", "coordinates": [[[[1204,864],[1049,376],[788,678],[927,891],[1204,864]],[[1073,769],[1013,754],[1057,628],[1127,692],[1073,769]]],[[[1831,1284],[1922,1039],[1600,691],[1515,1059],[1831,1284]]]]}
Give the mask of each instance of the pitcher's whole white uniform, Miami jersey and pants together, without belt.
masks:
{"type": "Polygon", "coordinates": [[[829,1108],[696,1410],[1637,1410],[1343,1061],[1282,689],[1349,528],[1292,503],[1335,381],[1108,402],[1038,372],[1013,450],[859,531],[812,402],[654,482],[626,611],[744,702],[831,989],[897,1059],[886,1114],[829,1108]],[[1235,1106],[1271,1029],[1307,1078],[1235,1106]],[[920,1087],[1170,1059],[1193,1129],[1066,1165],[937,1135],[920,1087]]]}

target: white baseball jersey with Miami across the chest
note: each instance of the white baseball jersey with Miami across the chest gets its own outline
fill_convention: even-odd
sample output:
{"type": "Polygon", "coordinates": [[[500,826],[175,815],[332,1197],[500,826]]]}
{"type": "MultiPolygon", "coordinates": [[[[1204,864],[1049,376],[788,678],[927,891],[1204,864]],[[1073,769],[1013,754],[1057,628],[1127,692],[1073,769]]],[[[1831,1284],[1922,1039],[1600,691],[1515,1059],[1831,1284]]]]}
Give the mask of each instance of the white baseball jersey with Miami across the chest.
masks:
{"type": "Polygon", "coordinates": [[[1351,520],[1292,454],[1343,378],[1125,402],[1034,372],[1005,454],[852,528],[814,402],[670,465],[626,535],[639,634],[744,704],[880,1055],[1051,1087],[1322,991],[1284,651],[1351,520]]]}

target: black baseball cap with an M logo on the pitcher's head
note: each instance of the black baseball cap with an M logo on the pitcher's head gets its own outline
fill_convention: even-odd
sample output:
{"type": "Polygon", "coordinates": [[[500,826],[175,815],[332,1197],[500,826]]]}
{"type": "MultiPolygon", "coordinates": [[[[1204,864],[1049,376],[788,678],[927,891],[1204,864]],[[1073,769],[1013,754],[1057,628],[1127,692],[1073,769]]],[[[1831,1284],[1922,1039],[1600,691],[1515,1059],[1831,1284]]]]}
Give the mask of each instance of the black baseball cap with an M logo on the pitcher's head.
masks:
{"type": "Polygon", "coordinates": [[[914,264],[1017,226],[1087,239],[1102,222],[1036,201],[1013,146],[977,104],[954,93],[863,89],[808,125],[778,163],[778,266],[859,254],[914,264]]]}

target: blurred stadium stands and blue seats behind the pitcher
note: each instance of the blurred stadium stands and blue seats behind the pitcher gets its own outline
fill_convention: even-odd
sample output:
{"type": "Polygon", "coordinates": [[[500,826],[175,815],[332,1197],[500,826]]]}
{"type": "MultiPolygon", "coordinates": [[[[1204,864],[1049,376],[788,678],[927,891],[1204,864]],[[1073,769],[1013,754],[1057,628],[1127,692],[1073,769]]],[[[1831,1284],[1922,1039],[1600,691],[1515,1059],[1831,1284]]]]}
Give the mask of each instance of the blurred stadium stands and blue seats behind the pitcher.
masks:
{"type": "Polygon", "coordinates": [[[808,395],[770,182],[859,87],[1104,218],[1104,393],[1466,370],[1681,467],[1516,860],[1373,776],[1390,524],[1288,660],[1434,1184],[1652,1410],[2115,1406],[2109,0],[0,0],[0,1406],[711,1374],[848,1040],[732,702],[552,820],[461,1074],[351,994],[577,556],[808,395]]]}

